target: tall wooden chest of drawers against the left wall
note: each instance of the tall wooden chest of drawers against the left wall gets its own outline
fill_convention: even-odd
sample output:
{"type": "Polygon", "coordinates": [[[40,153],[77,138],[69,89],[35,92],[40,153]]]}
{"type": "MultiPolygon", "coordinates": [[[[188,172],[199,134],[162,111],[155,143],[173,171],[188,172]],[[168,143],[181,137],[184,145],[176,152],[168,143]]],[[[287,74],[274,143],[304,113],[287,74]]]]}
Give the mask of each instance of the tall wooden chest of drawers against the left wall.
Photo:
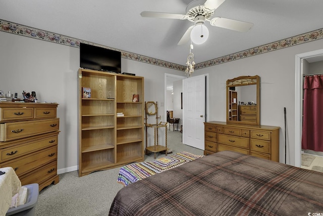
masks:
{"type": "Polygon", "coordinates": [[[58,104],[0,102],[0,167],[39,190],[58,183],[58,104]]]}

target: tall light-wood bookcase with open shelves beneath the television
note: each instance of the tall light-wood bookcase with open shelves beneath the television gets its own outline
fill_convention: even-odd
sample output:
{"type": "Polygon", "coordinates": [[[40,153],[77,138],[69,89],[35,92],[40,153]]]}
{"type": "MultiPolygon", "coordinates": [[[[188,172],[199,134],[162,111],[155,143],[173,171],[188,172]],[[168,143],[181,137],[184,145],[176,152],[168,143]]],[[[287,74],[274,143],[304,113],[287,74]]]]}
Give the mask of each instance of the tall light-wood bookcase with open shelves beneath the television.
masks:
{"type": "Polygon", "coordinates": [[[79,176],[143,161],[143,77],[90,69],[78,76],[79,176]],[[83,87],[90,98],[82,98],[83,87]],[[134,94],[139,102],[132,102],[134,94]]]}

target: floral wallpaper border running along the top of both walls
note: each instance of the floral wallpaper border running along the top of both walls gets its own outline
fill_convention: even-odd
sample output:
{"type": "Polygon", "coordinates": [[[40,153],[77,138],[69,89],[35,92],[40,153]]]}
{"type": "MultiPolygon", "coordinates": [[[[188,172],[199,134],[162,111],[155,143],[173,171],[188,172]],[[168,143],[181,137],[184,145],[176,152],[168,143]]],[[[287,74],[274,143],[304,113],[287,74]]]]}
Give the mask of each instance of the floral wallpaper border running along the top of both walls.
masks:
{"type": "MultiPolygon", "coordinates": [[[[119,49],[112,48],[112,47],[102,46],[100,44],[94,44],[94,43],[91,43],[88,41],[83,41],[83,40],[80,40],[77,38],[59,35],[56,33],[47,32],[47,31],[31,28],[28,26],[23,26],[23,25],[8,22],[5,20],[0,20],[0,31],[12,33],[12,34],[17,34],[17,35],[22,35],[22,36],[26,36],[26,37],[31,37],[31,38],[35,38],[35,39],[39,39],[39,40],[49,41],[49,42],[53,42],[53,43],[58,43],[58,44],[62,44],[62,45],[72,46],[72,47],[76,47],[76,48],[80,47],[80,43],[87,43],[87,44],[91,44],[91,45],[96,45],[96,46],[100,46],[100,47],[104,47],[104,48],[108,48],[108,49],[121,51],[121,55],[123,58],[131,59],[131,60],[135,60],[135,61],[140,61],[140,62],[145,62],[145,63],[149,63],[149,64],[154,64],[154,65],[158,65],[158,66],[163,66],[163,67],[167,67],[167,68],[171,68],[171,69],[182,70],[182,71],[184,71],[186,69],[186,66],[184,66],[184,65],[175,64],[172,62],[163,61],[163,60],[159,60],[156,58],[151,58],[148,56],[144,56],[144,55],[140,55],[140,54],[136,54],[136,53],[132,53],[132,52],[127,52],[127,51],[119,50],[119,49]]],[[[258,54],[262,54],[262,53],[266,53],[266,52],[270,52],[270,51],[274,51],[274,50],[278,50],[278,49],[283,49],[283,48],[295,46],[298,44],[302,44],[302,43],[306,43],[306,42],[310,42],[310,41],[314,41],[314,40],[319,40],[322,38],[323,38],[323,28],[315,30],[315,31],[307,32],[304,34],[300,34],[300,35],[297,35],[294,37],[279,40],[276,42],[261,45],[258,47],[254,47],[251,49],[236,52],[236,53],[233,53],[230,55],[226,55],[226,56],[222,56],[219,58],[204,61],[204,62],[196,64],[195,70],[209,67],[209,66],[213,66],[213,65],[217,65],[217,64],[221,64],[221,63],[225,63],[225,62],[229,62],[229,61],[233,61],[233,60],[242,59],[242,58],[253,56],[253,55],[258,55],[258,54]]]]}

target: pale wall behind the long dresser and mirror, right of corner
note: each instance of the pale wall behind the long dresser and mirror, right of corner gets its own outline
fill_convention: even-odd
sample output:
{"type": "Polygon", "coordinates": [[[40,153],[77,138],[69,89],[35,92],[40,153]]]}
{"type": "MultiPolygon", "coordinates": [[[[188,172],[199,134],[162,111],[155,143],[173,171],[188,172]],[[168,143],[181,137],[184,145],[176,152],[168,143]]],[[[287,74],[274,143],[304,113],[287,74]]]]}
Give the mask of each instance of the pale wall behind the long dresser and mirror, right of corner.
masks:
{"type": "Polygon", "coordinates": [[[250,56],[196,70],[193,76],[209,75],[209,120],[226,121],[226,81],[239,76],[260,76],[260,124],[279,126],[280,162],[285,162],[287,118],[287,164],[295,165],[295,55],[322,49],[323,40],[250,56]]]}

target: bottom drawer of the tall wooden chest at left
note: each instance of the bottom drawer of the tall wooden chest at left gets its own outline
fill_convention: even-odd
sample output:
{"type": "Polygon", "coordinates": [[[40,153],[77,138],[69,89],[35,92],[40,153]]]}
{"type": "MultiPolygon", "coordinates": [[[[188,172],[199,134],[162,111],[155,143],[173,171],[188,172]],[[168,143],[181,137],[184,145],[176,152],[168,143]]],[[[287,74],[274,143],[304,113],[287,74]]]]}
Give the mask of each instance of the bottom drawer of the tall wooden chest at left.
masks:
{"type": "Polygon", "coordinates": [[[38,183],[57,175],[57,162],[51,162],[47,166],[40,167],[37,170],[28,173],[20,178],[21,185],[38,183]]]}

